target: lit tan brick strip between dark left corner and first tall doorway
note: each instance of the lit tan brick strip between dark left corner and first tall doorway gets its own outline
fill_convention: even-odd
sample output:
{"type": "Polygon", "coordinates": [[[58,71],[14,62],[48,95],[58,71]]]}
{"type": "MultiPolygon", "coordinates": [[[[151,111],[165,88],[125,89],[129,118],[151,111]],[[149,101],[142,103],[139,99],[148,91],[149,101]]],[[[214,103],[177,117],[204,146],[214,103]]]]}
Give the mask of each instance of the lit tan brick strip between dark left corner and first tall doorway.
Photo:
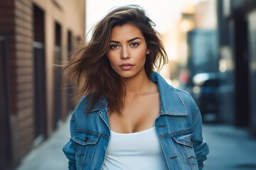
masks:
{"type": "Polygon", "coordinates": [[[16,98],[19,157],[33,146],[33,8],[31,1],[14,1],[16,98]]]}

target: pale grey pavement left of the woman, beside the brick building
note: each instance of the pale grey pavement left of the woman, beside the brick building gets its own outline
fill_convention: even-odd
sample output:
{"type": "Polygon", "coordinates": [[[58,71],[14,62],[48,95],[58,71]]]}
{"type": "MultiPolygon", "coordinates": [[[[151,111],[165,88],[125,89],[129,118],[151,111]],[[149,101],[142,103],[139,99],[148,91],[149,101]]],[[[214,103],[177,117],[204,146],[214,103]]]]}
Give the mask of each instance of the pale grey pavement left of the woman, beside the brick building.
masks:
{"type": "Polygon", "coordinates": [[[56,130],[48,140],[33,149],[21,162],[16,170],[65,170],[68,159],[63,153],[63,146],[70,139],[71,116],[56,130]]]}

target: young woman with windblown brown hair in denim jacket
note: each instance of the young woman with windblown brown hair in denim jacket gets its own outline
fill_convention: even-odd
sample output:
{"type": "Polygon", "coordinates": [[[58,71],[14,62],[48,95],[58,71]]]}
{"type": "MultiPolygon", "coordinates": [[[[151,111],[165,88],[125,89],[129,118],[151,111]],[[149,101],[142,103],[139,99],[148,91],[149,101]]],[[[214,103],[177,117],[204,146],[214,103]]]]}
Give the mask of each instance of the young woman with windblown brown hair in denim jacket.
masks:
{"type": "Polygon", "coordinates": [[[203,169],[201,113],[153,72],[167,61],[153,26],[139,6],[115,8],[65,67],[82,98],[63,147],[69,169],[203,169]]]}

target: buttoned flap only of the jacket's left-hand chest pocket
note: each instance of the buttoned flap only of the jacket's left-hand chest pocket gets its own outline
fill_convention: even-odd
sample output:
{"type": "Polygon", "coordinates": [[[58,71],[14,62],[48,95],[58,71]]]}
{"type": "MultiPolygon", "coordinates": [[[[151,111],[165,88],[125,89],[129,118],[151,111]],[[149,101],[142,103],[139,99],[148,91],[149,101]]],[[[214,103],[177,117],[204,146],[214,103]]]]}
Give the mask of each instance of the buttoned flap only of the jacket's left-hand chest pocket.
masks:
{"type": "Polygon", "coordinates": [[[92,135],[82,132],[75,132],[75,136],[72,137],[72,140],[77,142],[80,145],[95,145],[100,136],[92,135]]]}

